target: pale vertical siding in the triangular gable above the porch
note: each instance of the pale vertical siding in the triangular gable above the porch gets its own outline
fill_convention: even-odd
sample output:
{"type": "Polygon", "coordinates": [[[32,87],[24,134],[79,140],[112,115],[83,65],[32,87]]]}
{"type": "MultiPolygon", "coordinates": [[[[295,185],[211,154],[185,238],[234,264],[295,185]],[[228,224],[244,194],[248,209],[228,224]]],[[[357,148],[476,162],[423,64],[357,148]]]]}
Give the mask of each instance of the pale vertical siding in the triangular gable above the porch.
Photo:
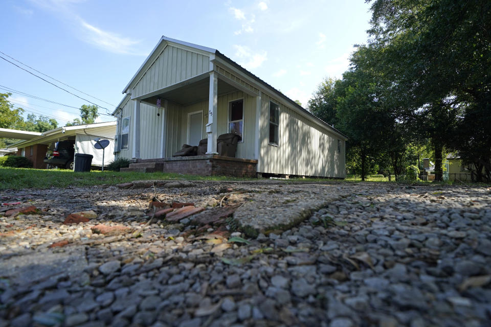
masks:
{"type": "Polygon", "coordinates": [[[210,57],[166,45],[162,53],[147,69],[131,90],[131,97],[185,81],[210,70],[210,57]]]}

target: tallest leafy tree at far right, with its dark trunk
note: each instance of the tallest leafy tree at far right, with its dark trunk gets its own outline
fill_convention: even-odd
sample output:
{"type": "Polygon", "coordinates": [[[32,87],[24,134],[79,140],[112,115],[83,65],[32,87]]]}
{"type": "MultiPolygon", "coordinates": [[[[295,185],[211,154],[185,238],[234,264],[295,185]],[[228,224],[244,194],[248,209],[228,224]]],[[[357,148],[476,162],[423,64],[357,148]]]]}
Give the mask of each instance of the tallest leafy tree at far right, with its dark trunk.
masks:
{"type": "MultiPolygon", "coordinates": [[[[480,134],[489,134],[483,118],[491,114],[491,2],[368,1],[369,45],[380,54],[374,65],[392,81],[393,98],[425,118],[419,131],[431,139],[435,179],[441,179],[444,147],[477,160],[483,148],[491,148],[488,135],[480,134]],[[462,142],[452,141],[452,134],[462,142]],[[483,147],[472,142],[478,139],[483,147]]],[[[480,161],[490,162],[491,153],[484,153],[488,157],[480,161]]]]}

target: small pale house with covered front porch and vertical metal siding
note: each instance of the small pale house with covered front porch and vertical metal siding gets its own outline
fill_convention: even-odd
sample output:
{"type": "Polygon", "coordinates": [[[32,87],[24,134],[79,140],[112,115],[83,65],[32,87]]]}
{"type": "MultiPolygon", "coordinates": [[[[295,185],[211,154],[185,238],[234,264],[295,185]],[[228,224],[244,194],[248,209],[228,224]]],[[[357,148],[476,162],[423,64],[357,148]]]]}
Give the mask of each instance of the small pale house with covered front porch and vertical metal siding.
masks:
{"type": "Polygon", "coordinates": [[[129,170],[345,177],[344,134],[215,49],[163,36],[123,94],[115,154],[129,170]],[[236,158],[217,155],[225,133],[241,137],[236,158]],[[204,138],[206,155],[172,158],[204,138]]]}

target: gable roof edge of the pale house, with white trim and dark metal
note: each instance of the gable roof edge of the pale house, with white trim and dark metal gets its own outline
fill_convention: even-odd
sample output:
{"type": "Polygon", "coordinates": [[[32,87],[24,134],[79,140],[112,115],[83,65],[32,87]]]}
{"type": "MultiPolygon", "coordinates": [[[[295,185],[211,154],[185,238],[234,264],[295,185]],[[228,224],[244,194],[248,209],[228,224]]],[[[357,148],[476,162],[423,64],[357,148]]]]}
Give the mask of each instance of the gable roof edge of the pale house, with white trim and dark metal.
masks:
{"type": "MultiPolygon", "coordinates": [[[[324,128],[326,128],[326,129],[328,129],[328,130],[330,130],[330,131],[332,131],[332,132],[340,135],[341,137],[344,138],[345,141],[348,139],[348,137],[344,133],[342,133],[338,129],[334,128],[333,126],[329,125],[328,123],[324,122],[323,120],[321,120],[320,118],[318,118],[316,115],[314,115],[313,113],[311,113],[307,109],[305,109],[302,106],[298,105],[295,101],[293,101],[292,99],[290,99],[287,96],[285,96],[281,91],[279,91],[278,89],[274,88],[270,84],[264,82],[262,79],[260,79],[259,77],[257,77],[253,73],[249,72],[247,69],[243,68],[241,65],[239,65],[237,62],[233,61],[229,57],[227,57],[224,54],[220,53],[218,50],[212,49],[212,48],[208,48],[206,46],[194,44],[194,43],[189,43],[189,42],[185,42],[185,41],[181,41],[181,40],[177,40],[177,39],[172,39],[172,38],[169,38],[169,37],[166,37],[166,36],[162,36],[160,38],[159,42],[157,43],[157,45],[155,45],[155,47],[151,51],[150,55],[148,55],[148,57],[145,59],[145,61],[143,62],[143,64],[138,69],[137,73],[135,75],[133,75],[133,77],[131,78],[131,80],[129,81],[129,83],[124,88],[124,90],[122,92],[123,94],[124,93],[127,93],[128,89],[134,87],[138,83],[138,81],[140,80],[140,78],[145,74],[145,72],[151,66],[151,64],[153,63],[153,61],[155,61],[155,59],[157,59],[157,57],[159,56],[159,54],[160,54],[161,51],[158,51],[158,50],[159,49],[162,50],[163,47],[166,44],[177,45],[177,46],[184,46],[186,48],[191,48],[193,50],[198,50],[200,52],[208,53],[209,55],[214,55],[215,58],[221,59],[222,61],[224,61],[228,65],[231,65],[234,68],[238,69],[238,71],[240,73],[242,73],[245,76],[253,79],[256,83],[259,83],[259,85],[263,89],[264,88],[265,89],[269,89],[273,94],[275,94],[278,97],[280,97],[281,99],[285,100],[285,102],[287,102],[289,105],[292,106],[292,109],[298,110],[298,111],[306,114],[309,119],[316,121],[317,123],[319,123],[320,125],[322,125],[324,128]]],[[[128,100],[129,99],[126,99],[126,97],[125,97],[122,100],[121,103],[123,103],[123,102],[126,103],[128,100]]],[[[121,108],[121,103],[120,103],[120,105],[118,105],[118,107],[113,112],[113,114],[118,110],[118,108],[121,108]]]]}

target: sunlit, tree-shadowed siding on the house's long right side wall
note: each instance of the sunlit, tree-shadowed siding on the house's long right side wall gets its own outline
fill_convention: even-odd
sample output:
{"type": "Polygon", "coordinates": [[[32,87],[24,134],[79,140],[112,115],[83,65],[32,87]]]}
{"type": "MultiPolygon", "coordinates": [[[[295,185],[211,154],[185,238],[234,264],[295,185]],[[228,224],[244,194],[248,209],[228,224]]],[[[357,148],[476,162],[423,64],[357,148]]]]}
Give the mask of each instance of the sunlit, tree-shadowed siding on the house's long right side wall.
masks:
{"type": "Polygon", "coordinates": [[[345,177],[345,141],[265,94],[261,96],[257,171],[270,174],[345,177]],[[270,101],[279,105],[278,146],[269,144],[270,101]],[[338,151],[341,141],[341,151],[338,151]]]}

